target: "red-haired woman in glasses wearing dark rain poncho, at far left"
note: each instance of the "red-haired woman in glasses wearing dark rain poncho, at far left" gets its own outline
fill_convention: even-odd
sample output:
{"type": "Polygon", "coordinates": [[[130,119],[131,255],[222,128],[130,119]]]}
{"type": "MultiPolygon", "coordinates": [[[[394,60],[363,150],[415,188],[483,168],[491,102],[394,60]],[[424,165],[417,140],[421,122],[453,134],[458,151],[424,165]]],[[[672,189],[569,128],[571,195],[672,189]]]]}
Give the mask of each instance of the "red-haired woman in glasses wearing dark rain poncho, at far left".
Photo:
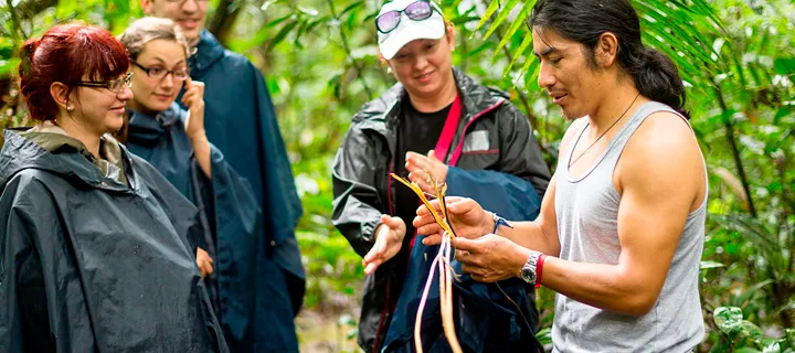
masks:
{"type": "Polygon", "coordinates": [[[21,52],[38,124],[0,150],[0,352],[229,352],[197,207],[108,133],[132,98],[125,47],[64,24],[21,52]]]}

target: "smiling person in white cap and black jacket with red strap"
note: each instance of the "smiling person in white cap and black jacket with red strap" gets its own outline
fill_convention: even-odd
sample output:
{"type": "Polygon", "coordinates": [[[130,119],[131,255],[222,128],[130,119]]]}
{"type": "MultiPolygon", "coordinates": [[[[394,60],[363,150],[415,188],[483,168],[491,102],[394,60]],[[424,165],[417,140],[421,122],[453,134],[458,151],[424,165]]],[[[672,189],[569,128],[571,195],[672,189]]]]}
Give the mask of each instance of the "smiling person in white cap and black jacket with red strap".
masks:
{"type": "MultiPolygon", "coordinates": [[[[411,221],[418,197],[393,182],[390,173],[407,176],[433,193],[430,173],[447,183],[448,195],[473,197],[505,212],[501,216],[521,220],[536,217],[550,179],[527,117],[505,93],[484,87],[452,66],[453,28],[445,25],[435,3],[388,2],[375,22],[381,55],[400,83],[353,117],[332,171],[332,222],[363,257],[368,275],[358,338],[368,352],[407,347],[417,292],[435,255],[434,248],[415,242],[411,221]]],[[[537,311],[532,299],[522,296],[521,284],[504,286],[516,289],[510,297],[521,301],[521,310],[495,295],[497,288],[467,279],[458,285],[462,292],[485,297],[480,299],[507,312],[485,328],[457,328],[477,331],[463,341],[469,351],[507,351],[537,343],[531,332],[537,311]],[[518,335],[506,331],[511,320],[522,322],[520,330],[511,331],[518,335]]],[[[431,300],[426,312],[433,315],[436,304],[431,300]]],[[[483,312],[466,312],[468,322],[478,325],[473,320],[483,319],[483,312]]],[[[441,325],[427,322],[423,340],[431,344],[441,334],[441,325]]]]}

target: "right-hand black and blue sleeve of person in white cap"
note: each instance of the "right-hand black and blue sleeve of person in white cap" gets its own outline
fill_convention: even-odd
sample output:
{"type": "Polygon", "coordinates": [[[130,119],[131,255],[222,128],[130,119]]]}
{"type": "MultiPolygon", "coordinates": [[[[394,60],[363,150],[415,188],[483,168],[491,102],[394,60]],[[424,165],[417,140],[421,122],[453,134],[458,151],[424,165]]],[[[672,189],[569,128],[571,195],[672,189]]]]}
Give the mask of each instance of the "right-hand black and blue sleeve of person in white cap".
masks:
{"type": "Polygon", "coordinates": [[[505,103],[496,118],[499,169],[469,171],[452,167],[447,172],[447,194],[471,197],[485,210],[508,220],[532,221],[549,184],[549,169],[530,122],[519,109],[505,103]]]}

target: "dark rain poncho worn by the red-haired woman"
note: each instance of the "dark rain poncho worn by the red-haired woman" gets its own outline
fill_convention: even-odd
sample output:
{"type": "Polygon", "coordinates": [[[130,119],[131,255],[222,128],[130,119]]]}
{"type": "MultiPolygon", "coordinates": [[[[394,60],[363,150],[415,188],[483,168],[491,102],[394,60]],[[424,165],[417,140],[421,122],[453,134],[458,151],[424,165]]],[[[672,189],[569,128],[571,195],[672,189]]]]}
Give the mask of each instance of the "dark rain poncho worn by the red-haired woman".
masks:
{"type": "Polygon", "coordinates": [[[195,265],[197,208],[121,148],[7,130],[0,151],[0,352],[227,352],[195,265]]]}

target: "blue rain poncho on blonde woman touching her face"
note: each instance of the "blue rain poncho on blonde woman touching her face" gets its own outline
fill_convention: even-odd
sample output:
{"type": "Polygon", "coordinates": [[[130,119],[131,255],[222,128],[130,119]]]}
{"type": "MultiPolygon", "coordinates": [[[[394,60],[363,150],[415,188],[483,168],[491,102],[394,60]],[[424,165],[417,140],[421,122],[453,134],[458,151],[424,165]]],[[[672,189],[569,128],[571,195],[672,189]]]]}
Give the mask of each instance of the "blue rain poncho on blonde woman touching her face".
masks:
{"type": "Polygon", "coordinates": [[[254,312],[262,212],[248,181],[212,146],[212,180],[204,175],[184,130],[186,116],[176,103],[156,116],[131,110],[126,145],[200,210],[199,247],[213,259],[213,274],[205,278],[210,298],[227,341],[240,343],[254,312]]]}

